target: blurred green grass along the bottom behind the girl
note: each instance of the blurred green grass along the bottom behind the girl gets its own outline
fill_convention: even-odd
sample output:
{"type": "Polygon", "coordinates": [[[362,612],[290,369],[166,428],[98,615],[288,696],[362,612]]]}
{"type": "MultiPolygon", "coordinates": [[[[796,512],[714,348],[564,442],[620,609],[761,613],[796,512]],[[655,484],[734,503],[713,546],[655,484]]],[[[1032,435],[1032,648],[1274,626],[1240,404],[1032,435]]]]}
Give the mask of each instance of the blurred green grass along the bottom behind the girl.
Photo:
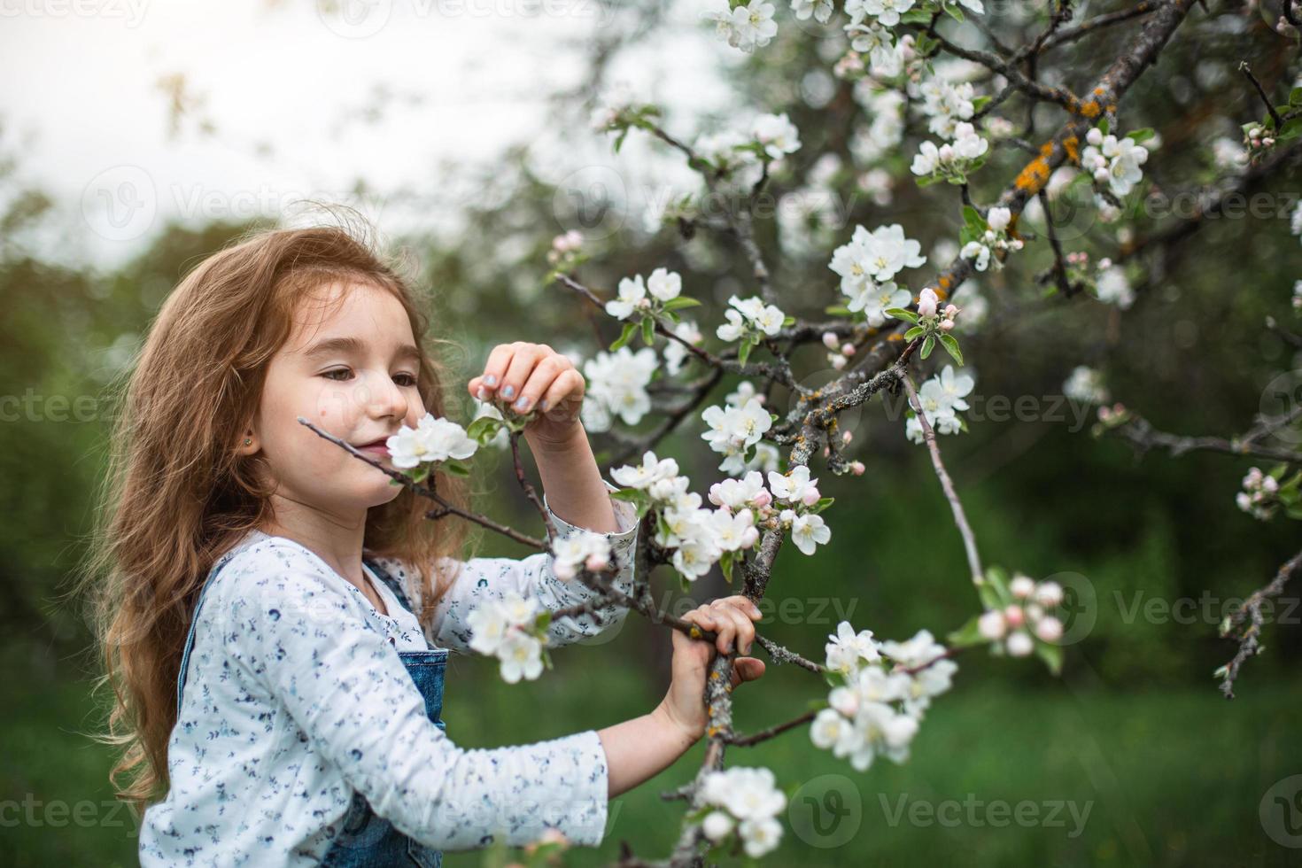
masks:
{"type": "MultiPolygon", "coordinates": [[[[444,711],[448,733],[464,747],[486,747],[600,729],[643,713],[663,695],[628,658],[643,648],[642,631],[629,630],[604,648],[562,651],[547,678],[517,686],[496,681],[488,661],[454,658],[444,711]]],[[[9,655],[8,664],[20,678],[12,687],[17,701],[0,727],[0,752],[8,759],[0,781],[9,800],[0,864],[135,864],[130,813],[105,807],[111,755],[82,734],[95,725],[86,683],[31,675],[39,668],[26,657],[9,655]],[[33,822],[23,806],[36,802],[33,822]],[[55,803],[70,806],[69,812],[85,803],[82,820],[69,813],[55,825],[60,815],[46,813],[55,803]]],[[[1073,671],[1069,661],[1064,681],[1046,679],[1034,688],[1008,687],[980,666],[961,671],[954,690],[932,705],[904,765],[879,761],[854,772],[814,748],[805,729],[754,748],[730,748],[730,764],[767,765],[784,787],[809,787],[783,817],[784,843],[766,863],[1298,863],[1302,852],[1266,834],[1258,806],[1272,783],[1302,772],[1302,708],[1289,700],[1302,695],[1302,682],[1256,681],[1226,703],[1210,679],[1203,688],[1135,685],[1121,691],[1082,685],[1081,669],[1073,671]],[[828,790],[836,794],[825,795],[828,790]],[[833,824],[831,813],[822,815],[819,837],[809,806],[823,809],[836,798],[842,816],[833,824]],[[1013,813],[1019,803],[1026,803],[1022,822],[1013,813]],[[1083,824],[1070,813],[1072,804],[1083,824]],[[1005,816],[997,806],[1006,806],[1001,826],[993,825],[1005,816]],[[818,846],[835,843],[833,835],[845,842],[818,846]]],[[[818,694],[818,682],[798,670],[771,668],[766,681],[766,690],[747,686],[737,694],[743,730],[796,716],[818,694]]],[[[639,855],[664,856],[682,803],[663,802],[659,794],[687,781],[702,752],[698,746],[616,798],[605,843],[572,850],[565,864],[605,864],[622,839],[639,855]]],[[[482,860],[483,854],[445,854],[448,868],[482,860]]]]}

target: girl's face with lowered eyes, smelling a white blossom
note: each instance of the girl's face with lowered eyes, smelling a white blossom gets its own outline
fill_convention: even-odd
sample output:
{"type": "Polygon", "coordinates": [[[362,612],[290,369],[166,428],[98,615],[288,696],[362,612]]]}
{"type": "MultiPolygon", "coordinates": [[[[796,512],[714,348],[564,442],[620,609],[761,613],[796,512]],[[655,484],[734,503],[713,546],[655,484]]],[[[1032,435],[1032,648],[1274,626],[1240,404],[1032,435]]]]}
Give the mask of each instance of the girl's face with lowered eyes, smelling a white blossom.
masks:
{"type": "Polygon", "coordinates": [[[255,442],[277,495],[339,518],[355,518],[400,493],[375,467],[319,437],[318,428],[392,467],[384,440],[424,415],[419,350],[402,305],[367,284],[322,286],[303,299],[289,340],[267,368],[255,442]]]}

